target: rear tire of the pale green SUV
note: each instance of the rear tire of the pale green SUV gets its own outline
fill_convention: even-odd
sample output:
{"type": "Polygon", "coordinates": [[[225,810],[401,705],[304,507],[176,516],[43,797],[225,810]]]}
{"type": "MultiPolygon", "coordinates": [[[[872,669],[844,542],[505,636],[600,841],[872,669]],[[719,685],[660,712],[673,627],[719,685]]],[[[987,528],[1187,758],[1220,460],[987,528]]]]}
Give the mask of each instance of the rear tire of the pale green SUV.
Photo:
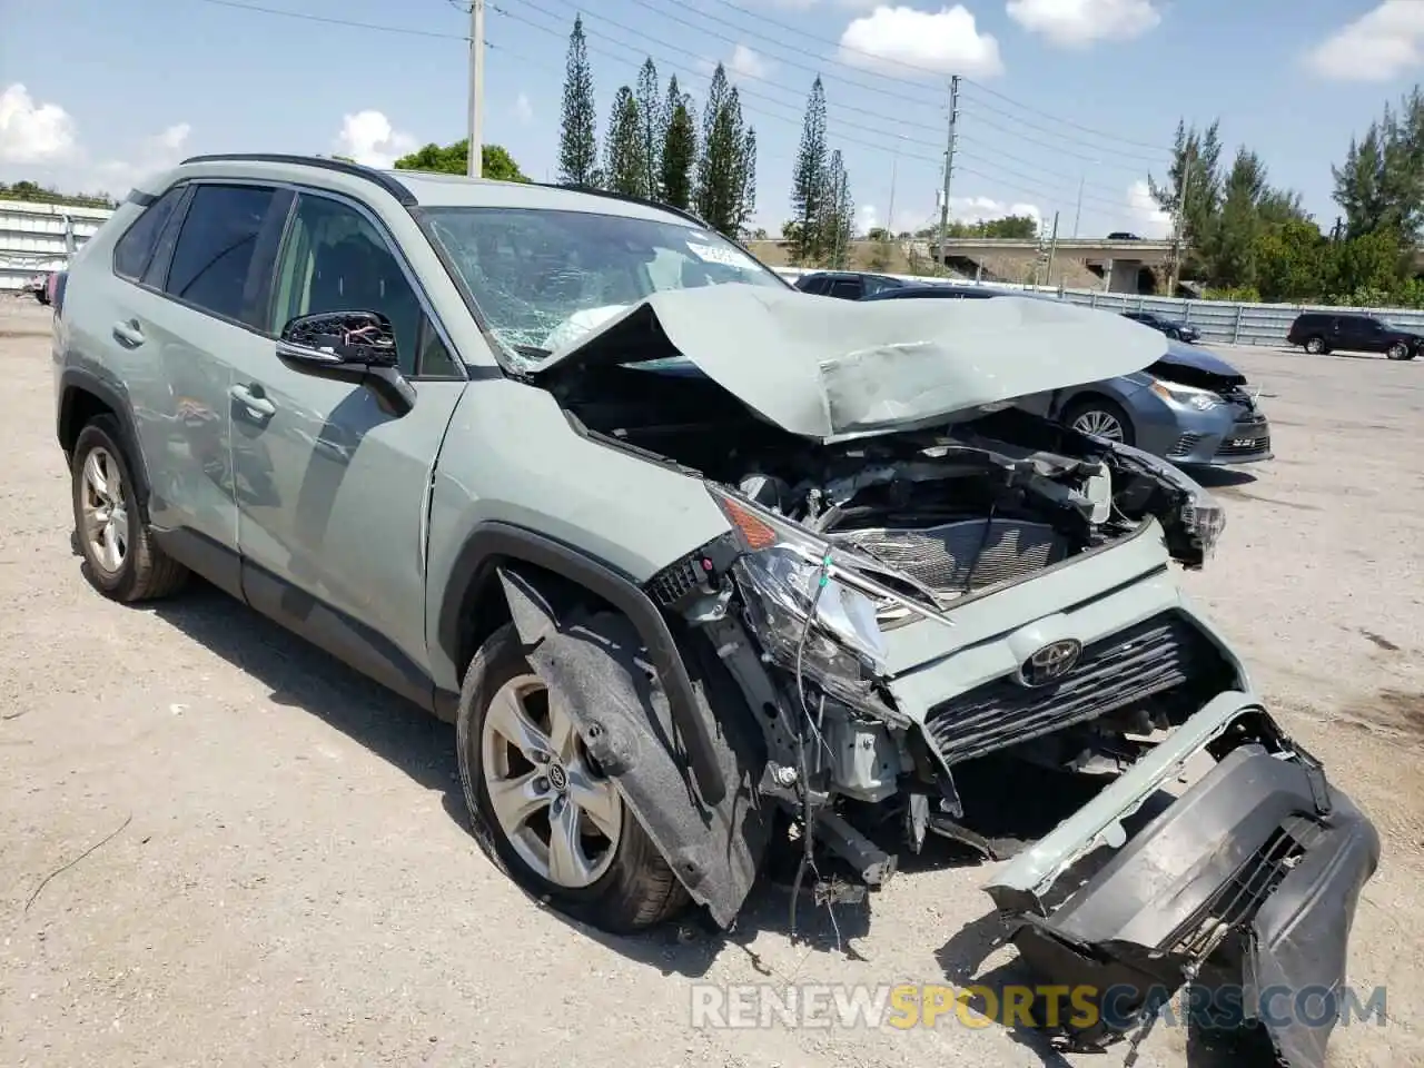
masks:
{"type": "Polygon", "coordinates": [[[147,517],[134,493],[132,464],[121,440],[112,416],[97,416],[80,431],[70,467],[70,498],[85,577],[104,597],[131,604],[178,592],[188,581],[188,568],[154,544],[147,517]],[[105,474],[105,484],[110,487],[117,474],[117,504],[122,514],[112,523],[104,517],[112,515],[115,501],[105,501],[95,493],[95,483],[90,476],[91,463],[95,473],[105,474]],[[117,553],[107,553],[110,538],[118,547],[117,553]]]}

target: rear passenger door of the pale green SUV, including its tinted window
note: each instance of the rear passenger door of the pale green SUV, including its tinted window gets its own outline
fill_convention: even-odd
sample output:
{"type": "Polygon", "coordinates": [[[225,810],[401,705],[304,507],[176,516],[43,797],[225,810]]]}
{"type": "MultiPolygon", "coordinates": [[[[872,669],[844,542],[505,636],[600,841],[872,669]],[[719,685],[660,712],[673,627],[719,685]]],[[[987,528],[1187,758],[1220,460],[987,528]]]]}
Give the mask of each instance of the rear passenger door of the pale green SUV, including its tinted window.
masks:
{"type": "Polygon", "coordinates": [[[135,225],[114,255],[125,285],[112,340],[132,357],[127,387],[148,463],[150,518],[174,555],[234,594],[231,367],[262,345],[262,279],[289,204],[272,185],[194,181],[148,208],[155,221],[162,215],[151,252],[135,225]]]}

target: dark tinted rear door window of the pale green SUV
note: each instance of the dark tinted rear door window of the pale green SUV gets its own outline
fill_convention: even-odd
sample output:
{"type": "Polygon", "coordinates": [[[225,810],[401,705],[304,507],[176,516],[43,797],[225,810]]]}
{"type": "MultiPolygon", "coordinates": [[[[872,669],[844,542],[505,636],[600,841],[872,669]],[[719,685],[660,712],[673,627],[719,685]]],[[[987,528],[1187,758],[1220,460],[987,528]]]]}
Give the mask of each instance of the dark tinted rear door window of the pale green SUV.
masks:
{"type": "Polygon", "coordinates": [[[165,292],[241,320],[252,253],[275,194],[251,185],[199,185],[184,216],[165,292]]]}

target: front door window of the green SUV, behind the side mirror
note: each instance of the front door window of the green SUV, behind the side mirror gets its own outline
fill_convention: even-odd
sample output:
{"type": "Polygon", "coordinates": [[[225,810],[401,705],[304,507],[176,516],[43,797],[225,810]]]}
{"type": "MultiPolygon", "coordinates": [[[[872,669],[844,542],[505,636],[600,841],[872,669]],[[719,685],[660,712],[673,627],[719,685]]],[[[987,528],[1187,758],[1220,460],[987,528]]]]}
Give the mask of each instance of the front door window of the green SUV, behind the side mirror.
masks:
{"type": "Polygon", "coordinates": [[[379,312],[396,333],[400,369],[457,375],[454,360],[426,318],[414,288],[384,236],[340,201],[303,195],[286,235],[272,298],[272,333],[299,315],[379,312]]]}

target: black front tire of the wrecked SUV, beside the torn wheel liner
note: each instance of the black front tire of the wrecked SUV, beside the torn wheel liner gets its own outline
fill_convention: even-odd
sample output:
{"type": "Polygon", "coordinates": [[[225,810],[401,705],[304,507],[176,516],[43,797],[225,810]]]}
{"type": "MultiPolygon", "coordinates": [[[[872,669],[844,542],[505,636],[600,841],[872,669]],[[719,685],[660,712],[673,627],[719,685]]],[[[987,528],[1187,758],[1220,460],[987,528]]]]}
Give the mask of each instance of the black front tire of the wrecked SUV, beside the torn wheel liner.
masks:
{"type": "MultiPolygon", "coordinates": [[[[543,810],[547,810],[545,816],[541,817],[535,812],[534,816],[525,817],[528,826],[524,830],[533,839],[540,836],[541,826],[550,829],[548,837],[550,840],[553,839],[554,813],[568,812],[570,799],[577,796],[574,783],[582,775],[592,772],[594,782],[600,790],[604,783],[607,785],[612,796],[612,803],[617,805],[618,810],[617,834],[611,839],[594,827],[594,830],[598,830],[598,834],[594,837],[594,846],[600,849],[600,857],[594,864],[597,877],[585,884],[571,884],[571,880],[551,877],[554,876],[553,853],[548,854],[547,862],[541,863],[540,857],[531,856],[531,837],[520,832],[518,840],[515,840],[506,824],[501,823],[500,815],[491,802],[490,785],[491,782],[508,780],[515,776],[517,770],[508,765],[494,768],[490,759],[487,759],[493,756],[490,750],[494,742],[490,739],[498,736],[498,732],[490,723],[490,718],[491,711],[494,716],[503,716],[503,712],[496,708],[496,701],[503,702],[524,686],[530,686],[531,689],[524,691],[520,705],[537,713],[540,702],[534,699],[534,693],[543,684],[538,684],[537,675],[534,675],[533,668],[524,658],[514,624],[506,624],[490,635],[488,641],[480,646],[470,662],[470,668],[464,675],[464,685],[460,688],[460,709],[456,716],[460,783],[464,787],[464,802],[480,847],[494,862],[496,867],[510,876],[524,891],[555,910],[600,930],[612,934],[631,934],[669,920],[686,906],[686,890],[662,859],[652,839],[648,837],[648,833],[624,803],[622,796],[612,786],[611,780],[601,779],[597,768],[584,763],[587,755],[574,756],[564,762],[550,760],[544,765],[550,772],[543,776],[538,775],[540,768],[523,758],[513,746],[507,748],[506,759],[520,759],[521,763],[517,770],[523,772],[524,776],[537,776],[531,780],[535,796],[551,797],[550,802],[543,805],[543,810]],[[527,706],[523,703],[524,701],[528,701],[527,706]],[[487,728],[490,729],[488,735],[487,728]],[[550,789],[548,786],[548,780],[554,779],[553,769],[562,768],[564,763],[568,765],[568,770],[560,779],[568,787],[568,793],[550,789]],[[533,770],[527,770],[524,765],[533,770]],[[538,789],[541,780],[544,782],[543,790],[538,789]],[[562,807],[557,807],[560,803],[562,803],[562,807]],[[612,843],[611,846],[607,844],[609,842],[612,843]]],[[[537,715],[531,716],[531,721],[540,731],[547,732],[544,740],[555,735],[555,731],[548,729],[554,725],[554,721],[547,718],[547,705],[548,702],[544,701],[545,719],[540,719],[537,715]]],[[[574,748],[582,752],[581,746],[582,740],[575,735],[574,748]]],[[[588,782],[587,778],[582,780],[588,782]]],[[[525,799],[528,796],[524,795],[525,799]]],[[[527,800],[525,805],[528,805],[527,800]]],[[[587,810],[577,805],[574,807],[578,809],[578,813],[582,813],[578,816],[578,820],[590,820],[590,826],[592,826],[587,810]]],[[[577,822],[575,826],[578,826],[577,822]]],[[[578,839],[578,852],[581,854],[581,844],[585,840],[582,837],[578,839]]],[[[587,859],[587,854],[582,856],[587,859]]]]}

